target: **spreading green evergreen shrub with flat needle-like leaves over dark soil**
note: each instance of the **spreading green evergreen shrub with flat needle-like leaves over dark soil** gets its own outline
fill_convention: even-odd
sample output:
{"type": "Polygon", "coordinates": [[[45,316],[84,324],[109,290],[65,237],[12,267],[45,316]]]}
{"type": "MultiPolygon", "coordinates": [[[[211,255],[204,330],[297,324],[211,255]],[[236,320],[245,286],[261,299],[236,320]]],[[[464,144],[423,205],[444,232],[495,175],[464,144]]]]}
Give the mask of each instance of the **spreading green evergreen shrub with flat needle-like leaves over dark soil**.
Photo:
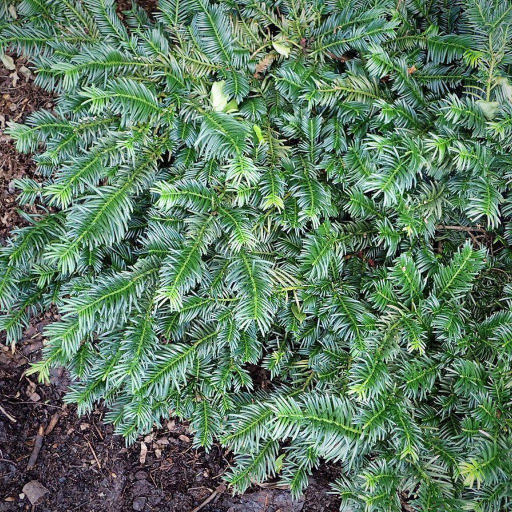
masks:
{"type": "Polygon", "coordinates": [[[33,372],[129,441],[190,418],[237,491],[327,460],[347,511],[512,506],[509,0],[12,11],[57,96],[9,127],[1,328],[61,314],[33,372]]]}

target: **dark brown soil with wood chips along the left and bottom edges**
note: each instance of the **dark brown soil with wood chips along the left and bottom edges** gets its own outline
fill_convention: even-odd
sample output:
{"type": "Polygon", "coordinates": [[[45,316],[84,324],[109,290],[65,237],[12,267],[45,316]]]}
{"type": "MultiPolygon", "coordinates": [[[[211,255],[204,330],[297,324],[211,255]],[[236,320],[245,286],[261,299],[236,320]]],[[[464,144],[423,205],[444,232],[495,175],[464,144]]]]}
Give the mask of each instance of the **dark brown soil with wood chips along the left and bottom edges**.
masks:
{"type": "MultiPolygon", "coordinates": [[[[22,122],[36,109],[51,108],[51,96],[21,74],[24,60],[14,57],[14,62],[17,82],[13,71],[0,68],[0,246],[12,228],[23,224],[10,183],[33,176],[35,167],[30,155],[16,153],[3,133],[5,122],[22,122]]],[[[338,510],[328,486],[339,476],[335,467],[323,466],[298,501],[291,500],[288,490],[271,485],[233,497],[221,478],[230,454],[220,446],[209,453],[193,449],[186,423],[167,421],[126,447],[102,421],[102,409],[78,417],[62,401],[69,384],[62,369],[52,373],[49,385],[24,376],[29,362],[40,357],[42,329],[53,319],[52,312],[34,319],[14,353],[0,335],[0,512],[192,512],[214,493],[203,512],[338,510]],[[37,432],[48,428],[52,418],[57,422],[42,438],[34,467],[27,469],[37,432]],[[144,447],[147,454],[142,457],[144,447]],[[32,505],[29,499],[37,495],[32,505]]]]}

